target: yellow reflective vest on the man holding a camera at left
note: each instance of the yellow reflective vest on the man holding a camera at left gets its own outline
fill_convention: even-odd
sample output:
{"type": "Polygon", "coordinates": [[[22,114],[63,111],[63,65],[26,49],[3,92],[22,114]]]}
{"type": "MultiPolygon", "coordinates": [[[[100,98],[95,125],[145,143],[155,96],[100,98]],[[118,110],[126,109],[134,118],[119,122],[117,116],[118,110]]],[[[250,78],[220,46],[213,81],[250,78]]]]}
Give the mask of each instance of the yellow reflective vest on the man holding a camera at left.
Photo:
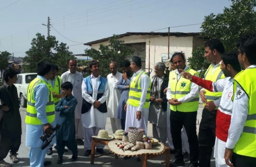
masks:
{"type": "MultiPolygon", "coordinates": [[[[42,125],[42,122],[37,118],[37,110],[35,106],[36,101],[34,97],[34,89],[39,84],[45,84],[48,87],[48,89],[49,89],[49,85],[51,85],[49,82],[46,82],[40,78],[35,78],[30,82],[27,90],[28,104],[27,104],[27,115],[25,119],[26,124],[42,125]]],[[[47,115],[46,118],[48,120],[48,123],[52,123],[55,118],[55,106],[54,106],[53,96],[50,89],[48,91],[48,103],[46,104],[45,112],[47,115]]]]}

